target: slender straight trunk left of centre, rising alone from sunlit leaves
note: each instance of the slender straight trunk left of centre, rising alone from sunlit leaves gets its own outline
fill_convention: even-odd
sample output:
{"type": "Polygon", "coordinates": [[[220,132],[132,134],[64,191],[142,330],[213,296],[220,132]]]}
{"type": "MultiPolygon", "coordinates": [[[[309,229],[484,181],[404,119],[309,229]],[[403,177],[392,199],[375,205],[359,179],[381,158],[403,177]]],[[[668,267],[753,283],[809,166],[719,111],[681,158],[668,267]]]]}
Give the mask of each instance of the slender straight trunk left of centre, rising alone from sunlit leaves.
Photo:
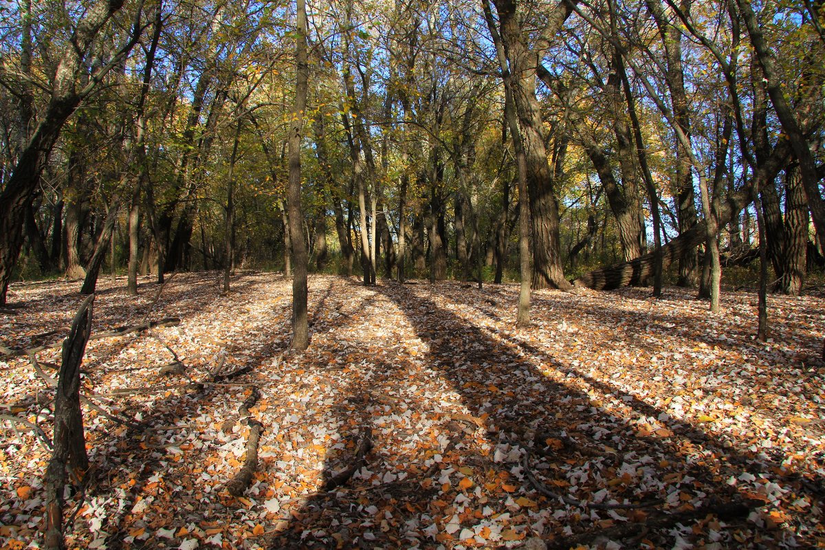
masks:
{"type": "Polygon", "coordinates": [[[292,348],[306,350],[309,347],[309,321],[307,319],[307,249],[304,242],[301,211],[301,129],[304,125],[304,109],[307,103],[307,12],[304,0],[296,0],[295,44],[295,110],[290,122],[290,181],[287,207],[290,211],[290,241],[292,242],[292,348]]]}

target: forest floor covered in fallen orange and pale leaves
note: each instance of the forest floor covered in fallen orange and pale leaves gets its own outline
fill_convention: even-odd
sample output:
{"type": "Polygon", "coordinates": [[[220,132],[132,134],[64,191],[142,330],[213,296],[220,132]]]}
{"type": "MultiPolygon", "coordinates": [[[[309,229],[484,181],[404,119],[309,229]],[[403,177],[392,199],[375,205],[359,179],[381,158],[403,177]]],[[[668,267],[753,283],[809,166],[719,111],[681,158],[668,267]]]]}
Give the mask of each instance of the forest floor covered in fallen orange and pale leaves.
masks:
{"type": "MultiPolygon", "coordinates": [[[[0,345],[59,343],[78,288],[13,284],[0,345]]],[[[540,291],[521,330],[517,285],[314,275],[295,352],[281,275],[158,289],[98,285],[92,335],[181,322],[89,342],[71,548],[825,546],[822,295],[771,297],[761,343],[747,292],[711,315],[685,289],[540,291]],[[164,344],[184,369],[161,373],[164,344]],[[256,390],[257,472],[233,497],[256,390]]],[[[28,357],[0,359],[0,546],[35,548],[50,454],[10,418],[50,435],[53,391],[28,357]]],[[[56,376],[59,349],[37,359],[56,376]]]]}

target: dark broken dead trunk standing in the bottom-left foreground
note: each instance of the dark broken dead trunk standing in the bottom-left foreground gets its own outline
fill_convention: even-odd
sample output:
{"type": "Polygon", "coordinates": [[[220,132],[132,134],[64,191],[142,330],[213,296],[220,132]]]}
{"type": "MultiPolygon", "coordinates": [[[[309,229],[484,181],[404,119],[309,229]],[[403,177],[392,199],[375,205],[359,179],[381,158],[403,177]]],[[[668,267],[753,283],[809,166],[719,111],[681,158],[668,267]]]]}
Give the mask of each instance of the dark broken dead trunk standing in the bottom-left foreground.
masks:
{"type": "Polygon", "coordinates": [[[92,333],[94,294],[83,300],[63,344],[63,360],[54,396],[54,450],[43,478],[45,488],[44,546],[64,548],[63,493],[67,468],[73,482],[82,480],[89,466],[80,409],[80,364],[92,333]]]}

